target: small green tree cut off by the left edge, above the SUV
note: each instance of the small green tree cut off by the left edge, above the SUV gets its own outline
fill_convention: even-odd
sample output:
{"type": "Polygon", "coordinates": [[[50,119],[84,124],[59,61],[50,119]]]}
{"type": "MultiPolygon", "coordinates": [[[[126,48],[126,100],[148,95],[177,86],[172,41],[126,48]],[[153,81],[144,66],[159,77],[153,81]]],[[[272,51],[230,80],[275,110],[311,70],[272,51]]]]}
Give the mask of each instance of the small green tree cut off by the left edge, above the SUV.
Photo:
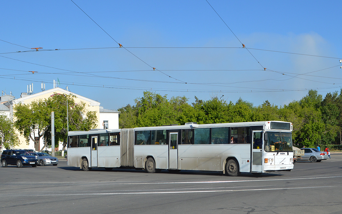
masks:
{"type": "Polygon", "coordinates": [[[0,143],[6,149],[20,144],[14,130],[14,123],[5,115],[0,115],[0,143]]]}

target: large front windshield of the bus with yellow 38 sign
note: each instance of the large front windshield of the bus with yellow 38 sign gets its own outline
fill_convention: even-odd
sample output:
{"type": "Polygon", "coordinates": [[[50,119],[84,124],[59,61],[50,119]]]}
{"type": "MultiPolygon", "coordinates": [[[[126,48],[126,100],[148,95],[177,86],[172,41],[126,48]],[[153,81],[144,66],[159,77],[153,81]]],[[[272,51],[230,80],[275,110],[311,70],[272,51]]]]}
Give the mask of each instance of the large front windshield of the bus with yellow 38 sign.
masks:
{"type": "Polygon", "coordinates": [[[292,150],[292,134],[289,132],[265,132],[265,151],[292,150]]]}

